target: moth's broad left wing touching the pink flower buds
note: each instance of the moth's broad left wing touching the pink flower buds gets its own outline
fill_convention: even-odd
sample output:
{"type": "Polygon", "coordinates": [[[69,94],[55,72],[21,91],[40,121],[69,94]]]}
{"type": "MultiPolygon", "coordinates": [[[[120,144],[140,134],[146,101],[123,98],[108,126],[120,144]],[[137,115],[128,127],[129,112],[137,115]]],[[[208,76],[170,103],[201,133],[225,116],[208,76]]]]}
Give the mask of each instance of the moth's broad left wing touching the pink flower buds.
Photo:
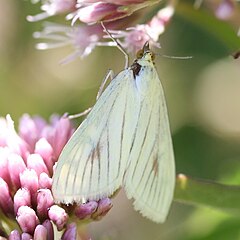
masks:
{"type": "Polygon", "coordinates": [[[57,202],[98,200],[122,184],[126,169],[126,158],[121,160],[123,124],[132,78],[127,69],[111,81],[64,147],[53,176],[57,202]]]}

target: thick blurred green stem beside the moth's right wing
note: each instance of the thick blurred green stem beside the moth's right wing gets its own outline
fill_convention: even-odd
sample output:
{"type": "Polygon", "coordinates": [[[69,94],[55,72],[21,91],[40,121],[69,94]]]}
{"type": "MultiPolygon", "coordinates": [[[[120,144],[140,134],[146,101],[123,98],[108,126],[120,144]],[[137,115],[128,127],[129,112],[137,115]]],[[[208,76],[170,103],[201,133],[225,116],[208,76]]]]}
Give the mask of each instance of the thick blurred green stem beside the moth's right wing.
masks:
{"type": "Polygon", "coordinates": [[[177,176],[174,200],[240,213],[240,187],[177,176]]]}

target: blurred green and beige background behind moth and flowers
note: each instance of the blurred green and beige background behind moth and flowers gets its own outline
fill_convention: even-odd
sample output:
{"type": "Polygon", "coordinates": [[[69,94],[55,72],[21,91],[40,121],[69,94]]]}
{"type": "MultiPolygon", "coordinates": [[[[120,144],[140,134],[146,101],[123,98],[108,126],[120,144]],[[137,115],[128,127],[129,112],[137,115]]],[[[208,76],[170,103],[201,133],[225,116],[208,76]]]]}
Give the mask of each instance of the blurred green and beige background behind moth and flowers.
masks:
{"type": "MultiPolygon", "coordinates": [[[[16,124],[23,113],[48,119],[52,113],[85,110],[94,104],[106,71],[117,73],[124,66],[115,48],[99,47],[67,65],[59,61],[71,47],[36,50],[32,34],[42,22],[29,23],[26,16],[39,11],[30,1],[1,1],[0,113],[10,113],[16,124]]],[[[169,109],[177,173],[240,185],[240,60],[231,57],[240,46],[236,33],[211,12],[180,3],[157,51],[193,58],[157,57],[156,67],[169,109]]],[[[167,222],[155,224],[133,211],[121,192],[89,232],[100,240],[235,240],[240,239],[240,218],[174,202],[167,222]]]]}

